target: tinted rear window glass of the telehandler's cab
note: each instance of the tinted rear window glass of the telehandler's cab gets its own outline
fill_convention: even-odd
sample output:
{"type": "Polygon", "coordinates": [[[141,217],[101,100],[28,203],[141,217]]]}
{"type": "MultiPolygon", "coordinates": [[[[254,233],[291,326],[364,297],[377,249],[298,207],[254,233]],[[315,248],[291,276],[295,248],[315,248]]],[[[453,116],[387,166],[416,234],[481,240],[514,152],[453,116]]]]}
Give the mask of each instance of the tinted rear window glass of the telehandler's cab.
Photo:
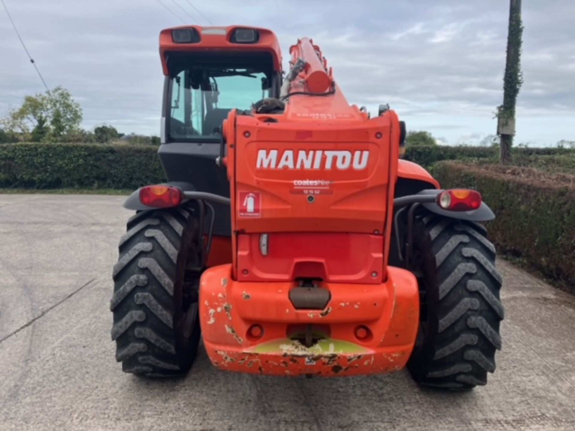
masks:
{"type": "Polygon", "coordinates": [[[250,109],[269,97],[270,74],[263,67],[185,65],[170,78],[168,136],[177,141],[220,141],[231,109],[250,109]]]}

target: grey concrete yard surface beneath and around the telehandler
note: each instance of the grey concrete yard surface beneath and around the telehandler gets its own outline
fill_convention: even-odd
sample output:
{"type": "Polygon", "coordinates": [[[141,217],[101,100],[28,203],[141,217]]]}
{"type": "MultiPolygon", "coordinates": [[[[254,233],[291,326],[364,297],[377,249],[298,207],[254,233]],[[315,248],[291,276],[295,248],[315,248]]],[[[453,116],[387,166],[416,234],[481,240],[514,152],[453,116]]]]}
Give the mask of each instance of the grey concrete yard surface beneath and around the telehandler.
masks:
{"type": "MultiPolygon", "coordinates": [[[[406,371],[305,379],[121,372],[110,341],[122,197],[0,195],[0,429],[575,429],[575,298],[499,261],[506,320],[489,384],[427,390],[406,371]]],[[[573,256],[565,256],[573,259],[573,256]]]]}

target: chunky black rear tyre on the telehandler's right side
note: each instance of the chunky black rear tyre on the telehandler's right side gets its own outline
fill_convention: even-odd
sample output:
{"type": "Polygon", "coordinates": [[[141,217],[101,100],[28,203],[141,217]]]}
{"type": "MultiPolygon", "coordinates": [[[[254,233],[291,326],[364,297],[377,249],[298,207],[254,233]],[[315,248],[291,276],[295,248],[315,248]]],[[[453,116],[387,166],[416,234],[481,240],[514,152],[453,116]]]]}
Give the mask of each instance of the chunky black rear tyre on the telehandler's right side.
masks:
{"type": "Polygon", "coordinates": [[[435,215],[417,217],[414,252],[421,316],[408,369],[420,384],[466,390],[487,383],[503,306],[495,248],[484,226],[435,215]]]}

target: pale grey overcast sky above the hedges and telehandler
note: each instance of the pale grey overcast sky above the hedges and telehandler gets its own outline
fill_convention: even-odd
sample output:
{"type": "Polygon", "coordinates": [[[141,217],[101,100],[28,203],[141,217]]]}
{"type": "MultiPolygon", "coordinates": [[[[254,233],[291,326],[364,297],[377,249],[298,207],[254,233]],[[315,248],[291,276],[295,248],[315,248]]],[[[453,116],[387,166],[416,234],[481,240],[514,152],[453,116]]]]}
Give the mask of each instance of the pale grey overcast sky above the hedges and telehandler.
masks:
{"type": "MultiPolygon", "coordinates": [[[[159,134],[161,29],[182,25],[158,0],[5,0],[49,87],[84,110],[85,128],[159,134]]],[[[161,0],[207,24],[188,0],[161,0]],[[179,7],[178,7],[178,6],[179,7]],[[182,10],[183,9],[183,10],[182,10]]],[[[507,0],[190,0],[216,25],[274,30],[287,48],[312,37],[350,103],[389,103],[409,130],[450,144],[494,133],[501,104],[507,0]]],[[[575,140],[574,0],[524,0],[524,85],[516,143],[575,140]]],[[[43,91],[0,8],[0,114],[43,91]]]]}

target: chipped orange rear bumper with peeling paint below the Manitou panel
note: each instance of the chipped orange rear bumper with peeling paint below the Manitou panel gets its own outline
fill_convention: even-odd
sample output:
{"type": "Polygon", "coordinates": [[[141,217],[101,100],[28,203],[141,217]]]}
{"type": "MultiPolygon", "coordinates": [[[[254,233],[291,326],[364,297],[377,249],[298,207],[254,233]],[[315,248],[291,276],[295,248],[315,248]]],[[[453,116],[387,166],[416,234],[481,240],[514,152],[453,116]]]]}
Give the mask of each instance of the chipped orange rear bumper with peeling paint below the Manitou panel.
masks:
{"type": "Polygon", "coordinates": [[[407,363],[419,322],[419,293],[411,272],[388,267],[382,284],[324,283],[324,310],[296,310],[293,282],[235,282],[231,265],[201,278],[200,321],[212,363],[223,370],[274,375],[354,375],[394,372],[407,363]],[[250,328],[260,325],[255,337],[250,328]],[[319,342],[294,338],[312,325],[319,342]],[[367,335],[358,338],[364,326],[367,335]]]}

